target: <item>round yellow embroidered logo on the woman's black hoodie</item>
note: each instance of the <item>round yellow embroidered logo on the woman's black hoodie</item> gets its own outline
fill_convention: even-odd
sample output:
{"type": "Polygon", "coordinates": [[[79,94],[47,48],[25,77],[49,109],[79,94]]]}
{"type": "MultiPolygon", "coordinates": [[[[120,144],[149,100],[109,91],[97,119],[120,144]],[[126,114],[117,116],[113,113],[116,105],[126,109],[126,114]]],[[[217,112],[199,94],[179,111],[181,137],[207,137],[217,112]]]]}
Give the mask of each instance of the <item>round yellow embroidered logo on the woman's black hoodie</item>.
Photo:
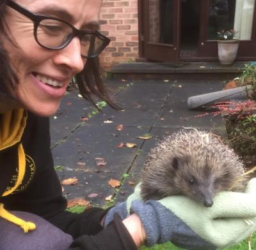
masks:
{"type": "MultiPolygon", "coordinates": [[[[24,175],[24,179],[22,180],[22,183],[20,184],[20,186],[17,187],[17,189],[13,192],[13,194],[24,191],[29,186],[31,180],[35,175],[35,171],[36,171],[35,162],[30,156],[26,154],[26,172],[24,175]]],[[[15,185],[15,183],[17,182],[17,177],[18,177],[18,169],[16,168],[15,175],[13,175],[10,185],[6,188],[6,191],[11,189],[15,185]]]]}

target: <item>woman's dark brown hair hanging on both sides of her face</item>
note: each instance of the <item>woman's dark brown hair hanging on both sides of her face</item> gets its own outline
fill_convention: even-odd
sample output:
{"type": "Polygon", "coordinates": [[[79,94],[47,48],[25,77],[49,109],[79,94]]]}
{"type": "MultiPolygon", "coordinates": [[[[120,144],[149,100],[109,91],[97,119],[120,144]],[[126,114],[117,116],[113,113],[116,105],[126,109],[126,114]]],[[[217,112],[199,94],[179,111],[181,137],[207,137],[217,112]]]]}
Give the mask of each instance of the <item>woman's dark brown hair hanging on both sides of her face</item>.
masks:
{"type": "MultiPolygon", "coordinates": [[[[0,0],[0,34],[3,38],[7,37],[6,31],[4,31],[4,10],[6,8],[6,2],[8,0],[0,0]]],[[[0,101],[1,99],[15,99],[13,97],[13,90],[15,89],[15,85],[17,83],[17,77],[12,70],[10,65],[10,60],[4,47],[1,43],[0,36],[0,101]]],[[[10,38],[8,38],[10,39],[10,38]]],[[[120,109],[118,105],[116,105],[111,98],[109,98],[108,93],[106,91],[106,87],[102,82],[99,74],[99,63],[98,58],[88,59],[86,65],[84,66],[83,71],[78,73],[74,78],[74,82],[78,85],[79,92],[85,99],[91,101],[94,105],[93,101],[94,97],[99,97],[100,99],[106,101],[112,108],[120,109]]]]}

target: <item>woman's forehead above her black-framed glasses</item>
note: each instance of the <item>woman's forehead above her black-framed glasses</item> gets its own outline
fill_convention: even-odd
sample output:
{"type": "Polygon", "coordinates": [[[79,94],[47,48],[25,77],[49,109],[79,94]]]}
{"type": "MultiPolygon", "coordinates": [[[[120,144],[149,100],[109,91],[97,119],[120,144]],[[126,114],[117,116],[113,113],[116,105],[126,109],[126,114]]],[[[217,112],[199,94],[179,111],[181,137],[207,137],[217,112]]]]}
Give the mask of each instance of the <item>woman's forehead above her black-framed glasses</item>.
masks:
{"type": "Polygon", "coordinates": [[[41,15],[52,15],[71,24],[97,22],[102,0],[17,0],[24,8],[41,15]]]}

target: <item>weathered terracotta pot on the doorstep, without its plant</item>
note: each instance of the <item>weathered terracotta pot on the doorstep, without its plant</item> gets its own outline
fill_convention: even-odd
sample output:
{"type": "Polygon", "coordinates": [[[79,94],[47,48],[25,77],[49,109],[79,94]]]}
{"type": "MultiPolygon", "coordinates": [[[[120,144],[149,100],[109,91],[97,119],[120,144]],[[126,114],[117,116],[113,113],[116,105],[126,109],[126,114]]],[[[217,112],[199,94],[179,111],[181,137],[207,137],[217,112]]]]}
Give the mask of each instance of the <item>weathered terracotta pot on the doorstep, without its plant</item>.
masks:
{"type": "Polygon", "coordinates": [[[218,40],[218,56],[221,64],[234,63],[239,47],[239,40],[218,40]]]}

